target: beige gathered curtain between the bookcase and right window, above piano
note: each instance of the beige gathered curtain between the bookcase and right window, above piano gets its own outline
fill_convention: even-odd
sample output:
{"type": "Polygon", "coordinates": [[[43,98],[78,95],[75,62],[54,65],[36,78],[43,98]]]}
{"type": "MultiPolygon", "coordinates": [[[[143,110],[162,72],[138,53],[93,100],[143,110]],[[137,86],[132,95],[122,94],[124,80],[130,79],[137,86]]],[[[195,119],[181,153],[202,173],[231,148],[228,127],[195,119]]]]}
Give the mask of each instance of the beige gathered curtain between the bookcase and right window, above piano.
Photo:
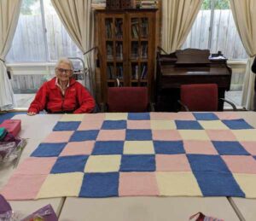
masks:
{"type": "Polygon", "coordinates": [[[162,0],[162,48],[180,49],[201,9],[203,0],[162,0]]]}

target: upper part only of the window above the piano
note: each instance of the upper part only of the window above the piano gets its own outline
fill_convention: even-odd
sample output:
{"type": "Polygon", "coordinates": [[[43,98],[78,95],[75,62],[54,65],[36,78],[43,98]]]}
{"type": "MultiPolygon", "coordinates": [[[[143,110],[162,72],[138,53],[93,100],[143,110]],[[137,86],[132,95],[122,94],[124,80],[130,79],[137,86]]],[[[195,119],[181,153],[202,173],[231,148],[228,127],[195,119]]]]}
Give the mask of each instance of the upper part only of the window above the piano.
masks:
{"type": "Polygon", "coordinates": [[[229,59],[247,59],[247,53],[236,31],[229,0],[204,0],[195,19],[185,48],[222,51],[229,59]]]}

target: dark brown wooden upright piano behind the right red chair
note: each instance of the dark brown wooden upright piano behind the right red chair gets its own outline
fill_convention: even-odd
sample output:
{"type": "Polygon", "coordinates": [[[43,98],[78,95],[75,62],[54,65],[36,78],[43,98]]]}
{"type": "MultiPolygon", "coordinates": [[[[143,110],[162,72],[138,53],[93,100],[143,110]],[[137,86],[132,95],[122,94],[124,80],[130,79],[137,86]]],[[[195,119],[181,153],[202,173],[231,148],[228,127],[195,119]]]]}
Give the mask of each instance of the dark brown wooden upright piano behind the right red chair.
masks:
{"type": "MultiPolygon", "coordinates": [[[[232,70],[227,59],[218,52],[210,54],[208,49],[183,49],[170,55],[157,54],[155,102],[156,111],[177,112],[180,106],[181,84],[218,84],[218,97],[224,98],[230,90],[232,70]]],[[[224,103],[218,102],[218,110],[224,103]]]]}

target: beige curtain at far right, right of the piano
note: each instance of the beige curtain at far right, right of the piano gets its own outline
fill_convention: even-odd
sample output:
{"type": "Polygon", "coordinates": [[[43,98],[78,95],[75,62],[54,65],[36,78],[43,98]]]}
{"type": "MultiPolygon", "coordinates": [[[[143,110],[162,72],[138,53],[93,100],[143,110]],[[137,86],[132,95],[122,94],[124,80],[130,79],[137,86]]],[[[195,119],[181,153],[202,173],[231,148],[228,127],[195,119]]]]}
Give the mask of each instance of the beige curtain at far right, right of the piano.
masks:
{"type": "Polygon", "coordinates": [[[241,104],[249,110],[255,110],[256,104],[253,107],[255,74],[252,73],[251,67],[256,55],[256,0],[230,0],[230,6],[242,44],[247,55],[250,56],[247,62],[241,104]]]}

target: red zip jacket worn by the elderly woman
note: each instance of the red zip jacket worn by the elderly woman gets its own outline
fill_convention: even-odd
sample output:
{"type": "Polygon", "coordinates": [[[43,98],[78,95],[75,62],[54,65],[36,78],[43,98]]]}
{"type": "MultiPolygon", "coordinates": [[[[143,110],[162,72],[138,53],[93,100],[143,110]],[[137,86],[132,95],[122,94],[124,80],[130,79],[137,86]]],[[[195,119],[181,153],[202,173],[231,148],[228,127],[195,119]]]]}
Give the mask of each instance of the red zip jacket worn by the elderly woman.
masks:
{"type": "Polygon", "coordinates": [[[28,112],[39,113],[46,110],[49,113],[73,112],[91,113],[95,107],[95,101],[88,90],[75,79],[70,79],[69,86],[62,96],[61,89],[55,85],[56,78],[45,82],[31,103],[28,112]]]}

